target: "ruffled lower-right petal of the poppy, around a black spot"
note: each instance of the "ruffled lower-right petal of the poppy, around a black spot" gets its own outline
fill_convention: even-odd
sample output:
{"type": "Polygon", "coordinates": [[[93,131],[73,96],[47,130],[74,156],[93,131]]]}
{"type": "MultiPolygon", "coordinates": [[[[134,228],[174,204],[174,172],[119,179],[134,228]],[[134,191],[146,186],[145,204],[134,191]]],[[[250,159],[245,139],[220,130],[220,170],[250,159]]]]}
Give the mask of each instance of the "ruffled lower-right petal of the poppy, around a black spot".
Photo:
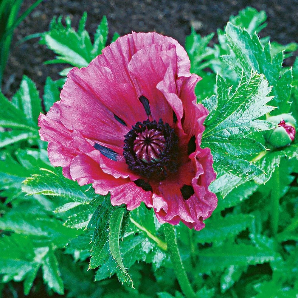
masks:
{"type": "Polygon", "coordinates": [[[208,190],[209,184],[215,180],[212,168],[212,155],[209,148],[199,149],[190,155],[196,168],[192,170],[190,163],[184,164],[175,181],[162,181],[159,185],[159,195],[153,194],[153,208],[158,220],[170,224],[182,221],[189,228],[201,230],[217,206],[217,198],[208,190]],[[181,187],[193,186],[194,194],[185,200],[181,195],[181,187]]]}

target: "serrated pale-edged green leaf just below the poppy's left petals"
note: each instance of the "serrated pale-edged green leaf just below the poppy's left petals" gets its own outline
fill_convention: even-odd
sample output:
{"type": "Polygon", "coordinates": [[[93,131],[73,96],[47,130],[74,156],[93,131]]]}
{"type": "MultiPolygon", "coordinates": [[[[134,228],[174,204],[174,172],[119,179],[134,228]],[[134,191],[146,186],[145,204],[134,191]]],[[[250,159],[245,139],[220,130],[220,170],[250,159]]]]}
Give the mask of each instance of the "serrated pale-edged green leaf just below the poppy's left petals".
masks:
{"type": "Polygon", "coordinates": [[[22,190],[29,195],[61,196],[80,203],[91,201],[92,197],[88,195],[88,192],[83,192],[77,182],[62,176],[58,169],[55,171],[56,173],[48,169],[41,169],[40,174],[31,175],[23,182],[22,190]]]}

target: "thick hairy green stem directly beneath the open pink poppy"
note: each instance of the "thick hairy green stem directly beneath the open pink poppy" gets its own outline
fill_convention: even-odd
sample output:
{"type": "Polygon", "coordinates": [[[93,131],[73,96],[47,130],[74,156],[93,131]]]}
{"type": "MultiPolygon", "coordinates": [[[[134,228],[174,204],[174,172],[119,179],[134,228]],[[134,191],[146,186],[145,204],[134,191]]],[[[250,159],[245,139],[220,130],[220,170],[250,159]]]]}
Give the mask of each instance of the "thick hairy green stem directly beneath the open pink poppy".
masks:
{"type": "Polygon", "coordinates": [[[170,254],[170,259],[173,263],[173,269],[176,274],[180,288],[187,298],[195,298],[195,292],[190,285],[190,281],[186,275],[181,256],[179,253],[177,238],[175,234],[174,226],[170,224],[164,224],[164,233],[167,241],[168,252],[170,254]]]}

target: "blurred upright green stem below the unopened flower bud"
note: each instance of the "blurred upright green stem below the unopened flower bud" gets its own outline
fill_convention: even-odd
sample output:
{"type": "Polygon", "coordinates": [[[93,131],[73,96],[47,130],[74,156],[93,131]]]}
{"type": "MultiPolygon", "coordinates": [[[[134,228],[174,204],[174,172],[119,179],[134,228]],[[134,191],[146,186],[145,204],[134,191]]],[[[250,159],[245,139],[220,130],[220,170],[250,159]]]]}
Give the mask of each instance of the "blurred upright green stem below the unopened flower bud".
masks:
{"type": "Polygon", "coordinates": [[[278,219],[279,219],[279,200],[280,200],[280,173],[276,167],[272,178],[274,189],[271,190],[271,232],[272,235],[277,234],[278,219]]]}

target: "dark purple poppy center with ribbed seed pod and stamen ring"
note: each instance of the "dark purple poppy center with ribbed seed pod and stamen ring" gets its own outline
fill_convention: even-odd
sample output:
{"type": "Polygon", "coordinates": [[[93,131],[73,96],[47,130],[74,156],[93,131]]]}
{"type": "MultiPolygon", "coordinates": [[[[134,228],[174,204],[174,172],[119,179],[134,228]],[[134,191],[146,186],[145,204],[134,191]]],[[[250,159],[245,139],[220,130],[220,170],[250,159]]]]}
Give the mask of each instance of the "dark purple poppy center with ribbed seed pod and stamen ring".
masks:
{"type": "Polygon", "coordinates": [[[178,168],[178,137],[162,119],[137,122],[125,135],[123,156],[134,172],[147,179],[162,180],[178,168]]]}

